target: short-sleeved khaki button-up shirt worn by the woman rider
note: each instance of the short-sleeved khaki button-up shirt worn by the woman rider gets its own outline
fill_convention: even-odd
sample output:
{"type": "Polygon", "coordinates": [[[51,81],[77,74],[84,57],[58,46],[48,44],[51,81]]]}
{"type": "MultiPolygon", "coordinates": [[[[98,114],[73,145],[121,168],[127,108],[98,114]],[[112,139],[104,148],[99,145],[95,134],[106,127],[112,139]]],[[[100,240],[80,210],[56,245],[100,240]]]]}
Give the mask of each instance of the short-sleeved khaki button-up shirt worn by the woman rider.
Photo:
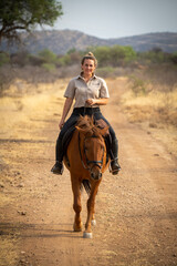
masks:
{"type": "MultiPolygon", "coordinates": [[[[85,103],[87,99],[110,98],[110,94],[106,82],[102,78],[93,75],[86,83],[80,74],[69,82],[64,96],[75,99],[74,108],[88,108],[90,105],[85,103]]],[[[97,108],[98,105],[92,106],[97,108]]]]}

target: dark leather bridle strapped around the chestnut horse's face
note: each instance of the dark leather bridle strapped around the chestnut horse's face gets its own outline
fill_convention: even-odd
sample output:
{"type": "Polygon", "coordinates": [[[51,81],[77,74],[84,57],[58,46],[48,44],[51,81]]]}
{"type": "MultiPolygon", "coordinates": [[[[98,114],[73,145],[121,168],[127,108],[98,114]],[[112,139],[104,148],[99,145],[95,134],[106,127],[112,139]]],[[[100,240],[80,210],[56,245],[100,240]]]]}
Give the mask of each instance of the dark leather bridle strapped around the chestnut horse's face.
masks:
{"type": "Polygon", "coordinates": [[[80,151],[80,157],[81,157],[81,162],[82,162],[82,165],[85,170],[88,170],[90,172],[92,171],[92,168],[96,165],[98,166],[101,170],[103,167],[103,157],[104,157],[104,147],[103,147],[103,155],[102,155],[102,161],[90,161],[87,157],[86,157],[86,149],[85,149],[85,140],[86,139],[92,139],[92,137],[96,137],[98,139],[97,136],[95,135],[92,135],[92,136],[85,136],[84,139],[84,155],[85,155],[85,158],[86,158],[86,165],[83,161],[83,156],[82,156],[82,152],[81,152],[81,146],[80,146],[80,142],[81,142],[81,137],[80,137],[80,132],[79,132],[79,151],[80,151]],[[92,167],[90,167],[90,164],[93,164],[92,167]]]}

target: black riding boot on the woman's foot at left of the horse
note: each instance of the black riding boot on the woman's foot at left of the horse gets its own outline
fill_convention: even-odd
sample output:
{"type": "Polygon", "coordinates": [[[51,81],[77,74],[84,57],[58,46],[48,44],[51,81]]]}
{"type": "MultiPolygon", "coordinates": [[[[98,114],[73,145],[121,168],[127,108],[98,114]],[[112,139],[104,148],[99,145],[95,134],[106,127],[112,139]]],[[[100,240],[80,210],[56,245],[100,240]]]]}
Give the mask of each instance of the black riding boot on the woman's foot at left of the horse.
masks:
{"type": "Polygon", "coordinates": [[[63,174],[63,146],[62,146],[62,140],[58,139],[56,141],[56,147],[55,147],[55,157],[56,157],[56,162],[54,164],[54,166],[51,168],[51,172],[53,174],[59,174],[62,175],[63,174]]]}

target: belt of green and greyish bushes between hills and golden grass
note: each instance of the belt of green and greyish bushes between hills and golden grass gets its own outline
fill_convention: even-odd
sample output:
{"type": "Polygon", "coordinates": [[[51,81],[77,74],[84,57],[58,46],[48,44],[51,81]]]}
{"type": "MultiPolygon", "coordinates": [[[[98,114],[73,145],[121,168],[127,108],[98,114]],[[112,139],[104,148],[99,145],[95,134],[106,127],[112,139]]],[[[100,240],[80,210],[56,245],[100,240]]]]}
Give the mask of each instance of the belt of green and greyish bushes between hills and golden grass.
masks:
{"type": "Polygon", "coordinates": [[[114,45],[90,47],[86,51],[72,49],[66,54],[55,54],[45,49],[38,54],[30,54],[28,51],[13,54],[1,52],[0,93],[2,94],[17,79],[38,84],[73,76],[80,72],[81,58],[87,51],[93,51],[97,58],[97,75],[103,78],[129,76],[135,94],[148,92],[149,88],[145,85],[147,81],[153,80],[160,84],[165,82],[170,90],[176,83],[177,52],[171,54],[155,48],[139,53],[131,47],[114,45]]]}

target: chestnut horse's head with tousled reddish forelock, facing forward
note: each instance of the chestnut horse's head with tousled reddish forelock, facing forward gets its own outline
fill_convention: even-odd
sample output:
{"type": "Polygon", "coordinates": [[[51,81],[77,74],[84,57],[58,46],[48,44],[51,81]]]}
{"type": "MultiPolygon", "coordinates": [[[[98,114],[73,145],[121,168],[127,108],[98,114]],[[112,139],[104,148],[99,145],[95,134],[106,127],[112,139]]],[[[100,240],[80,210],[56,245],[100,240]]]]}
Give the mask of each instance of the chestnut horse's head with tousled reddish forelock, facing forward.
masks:
{"type": "Polygon", "coordinates": [[[103,136],[108,126],[98,129],[90,117],[86,117],[86,121],[88,123],[79,123],[76,126],[80,155],[84,168],[90,171],[91,178],[97,181],[102,177],[103,167],[106,164],[106,146],[103,136]]]}

